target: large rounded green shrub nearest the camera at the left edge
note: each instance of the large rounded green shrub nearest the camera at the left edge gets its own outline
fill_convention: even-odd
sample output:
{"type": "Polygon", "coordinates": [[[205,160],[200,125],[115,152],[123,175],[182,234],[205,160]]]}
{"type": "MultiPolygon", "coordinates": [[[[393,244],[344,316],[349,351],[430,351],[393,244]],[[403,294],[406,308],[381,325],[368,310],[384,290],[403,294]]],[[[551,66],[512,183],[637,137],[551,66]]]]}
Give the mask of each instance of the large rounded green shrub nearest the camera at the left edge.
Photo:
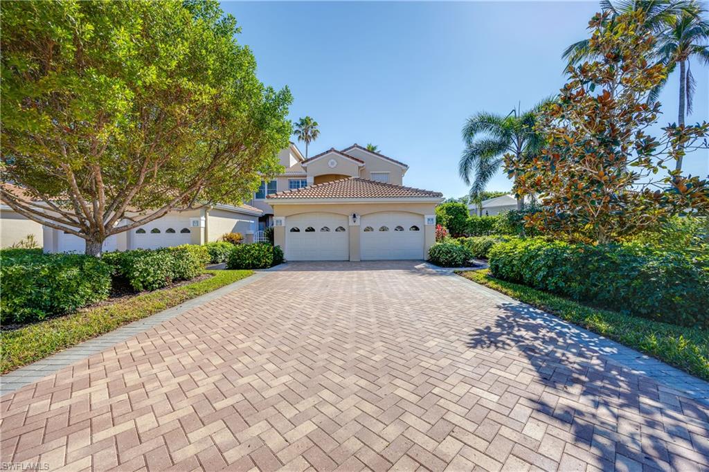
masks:
{"type": "Polygon", "coordinates": [[[82,254],[10,249],[0,252],[0,279],[1,322],[32,322],[108,298],[111,266],[82,254]]]}

